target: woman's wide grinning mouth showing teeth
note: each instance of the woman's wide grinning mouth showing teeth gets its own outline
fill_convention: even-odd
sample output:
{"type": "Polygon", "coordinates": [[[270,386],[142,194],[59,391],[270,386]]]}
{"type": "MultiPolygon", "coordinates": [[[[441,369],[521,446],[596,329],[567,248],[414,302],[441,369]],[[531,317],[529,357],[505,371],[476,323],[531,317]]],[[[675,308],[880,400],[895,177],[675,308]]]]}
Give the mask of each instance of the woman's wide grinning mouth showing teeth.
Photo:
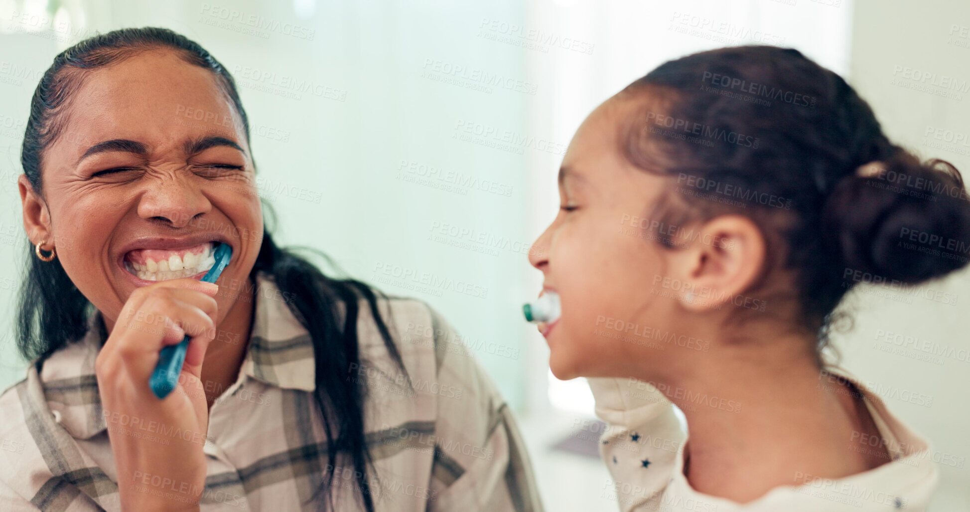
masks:
{"type": "Polygon", "coordinates": [[[131,244],[118,264],[126,273],[137,278],[136,284],[180,278],[202,278],[215,264],[212,252],[215,241],[150,239],[131,244]],[[141,247],[139,247],[141,246],[141,247]]]}

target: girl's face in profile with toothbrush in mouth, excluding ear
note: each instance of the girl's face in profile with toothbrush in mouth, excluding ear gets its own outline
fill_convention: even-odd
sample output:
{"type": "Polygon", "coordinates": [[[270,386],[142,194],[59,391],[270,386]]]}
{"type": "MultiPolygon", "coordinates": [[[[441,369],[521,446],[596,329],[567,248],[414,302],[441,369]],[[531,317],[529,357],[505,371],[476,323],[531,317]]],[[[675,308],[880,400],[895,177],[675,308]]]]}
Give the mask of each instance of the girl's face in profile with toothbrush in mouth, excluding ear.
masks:
{"type": "Polygon", "coordinates": [[[629,112],[627,100],[613,98],[579,127],[560,170],[559,215],[535,241],[541,251],[530,252],[562,300],[559,322],[546,329],[560,379],[616,376],[633,361],[662,365],[681,348],[651,338],[680,334],[679,296],[662,293],[676,253],[644,238],[645,216],[669,186],[620,153],[619,119],[629,112]]]}

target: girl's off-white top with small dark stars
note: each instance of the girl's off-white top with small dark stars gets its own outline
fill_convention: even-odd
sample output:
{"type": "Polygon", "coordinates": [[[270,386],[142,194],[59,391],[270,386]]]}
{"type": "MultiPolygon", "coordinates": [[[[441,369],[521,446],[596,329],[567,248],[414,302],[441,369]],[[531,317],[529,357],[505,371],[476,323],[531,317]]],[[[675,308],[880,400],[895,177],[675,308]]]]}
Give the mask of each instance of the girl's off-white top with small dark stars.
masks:
{"type": "MultiPolygon", "coordinates": [[[[876,512],[925,510],[939,474],[930,445],[896,419],[883,400],[840,368],[820,373],[819,386],[845,388],[839,378],[861,393],[880,435],[861,439],[873,450],[883,443],[891,461],[837,480],[796,473],[792,485],[779,486],[760,498],[738,503],[696,492],[684,476],[687,430],[673,404],[654,386],[634,379],[589,379],[596,412],[607,424],[599,452],[613,477],[607,496],[620,510],[660,512],[876,512]]],[[[685,406],[717,407],[733,414],[743,404],[723,397],[682,392],[685,406]]]]}

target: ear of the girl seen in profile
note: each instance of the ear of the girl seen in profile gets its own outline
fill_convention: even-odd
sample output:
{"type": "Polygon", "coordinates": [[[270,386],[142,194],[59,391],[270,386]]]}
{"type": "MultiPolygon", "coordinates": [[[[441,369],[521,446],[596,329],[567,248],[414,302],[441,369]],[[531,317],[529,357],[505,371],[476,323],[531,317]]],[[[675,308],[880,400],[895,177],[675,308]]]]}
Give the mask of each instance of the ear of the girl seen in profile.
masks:
{"type": "Polygon", "coordinates": [[[680,301],[686,309],[706,311],[724,304],[755,302],[744,295],[765,261],[766,243],[755,222],[724,215],[704,222],[687,236],[683,249],[671,253],[667,267],[674,274],[671,277],[685,285],[680,301]]]}

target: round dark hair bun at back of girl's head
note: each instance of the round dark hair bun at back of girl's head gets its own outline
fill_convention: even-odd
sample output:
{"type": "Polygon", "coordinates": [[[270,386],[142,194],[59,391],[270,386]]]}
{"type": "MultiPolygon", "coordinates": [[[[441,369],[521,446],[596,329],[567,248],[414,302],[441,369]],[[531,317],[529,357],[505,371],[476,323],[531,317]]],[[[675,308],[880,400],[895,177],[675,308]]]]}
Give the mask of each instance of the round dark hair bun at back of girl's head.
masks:
{"type": "Polygon", "coordinates": [[[822,225],[846,268],[886,281],[920,283],[970,261],[970,200],[959,172],[903,150],[838,182],[822,225]]]}

